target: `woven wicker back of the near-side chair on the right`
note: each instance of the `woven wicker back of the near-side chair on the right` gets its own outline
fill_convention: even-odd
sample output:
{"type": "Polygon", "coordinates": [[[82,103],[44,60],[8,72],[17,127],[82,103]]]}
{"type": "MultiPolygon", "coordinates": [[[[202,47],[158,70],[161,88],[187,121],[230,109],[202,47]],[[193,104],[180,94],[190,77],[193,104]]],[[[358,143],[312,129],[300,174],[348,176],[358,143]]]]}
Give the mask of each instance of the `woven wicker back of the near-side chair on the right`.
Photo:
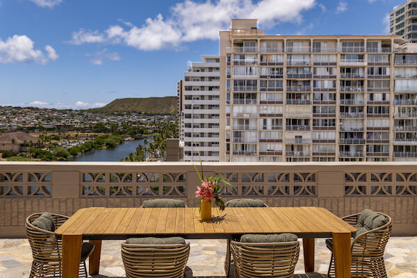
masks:
{"type": "Polygon", "coordinates": [[[240,243],[231,241],[235,277],[293,278],[300,255],[298,241],[288,243],[240,243]]]}

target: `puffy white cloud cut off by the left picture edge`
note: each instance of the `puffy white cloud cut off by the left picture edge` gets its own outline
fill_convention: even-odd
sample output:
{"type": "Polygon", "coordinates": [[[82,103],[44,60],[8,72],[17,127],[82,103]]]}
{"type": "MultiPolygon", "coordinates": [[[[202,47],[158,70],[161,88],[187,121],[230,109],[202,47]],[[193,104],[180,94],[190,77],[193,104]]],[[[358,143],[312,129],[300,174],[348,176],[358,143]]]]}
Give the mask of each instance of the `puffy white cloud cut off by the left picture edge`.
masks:
{"type": "Polygon", "coordinates": [[[45,47],[45,56],[39,49],[33,48],[34,42],[26,35],[13,35],[3,41],[0,39],[0,63],[48,63],[49,60],[56,60],[58,54],[50,45],[45,47]]]}

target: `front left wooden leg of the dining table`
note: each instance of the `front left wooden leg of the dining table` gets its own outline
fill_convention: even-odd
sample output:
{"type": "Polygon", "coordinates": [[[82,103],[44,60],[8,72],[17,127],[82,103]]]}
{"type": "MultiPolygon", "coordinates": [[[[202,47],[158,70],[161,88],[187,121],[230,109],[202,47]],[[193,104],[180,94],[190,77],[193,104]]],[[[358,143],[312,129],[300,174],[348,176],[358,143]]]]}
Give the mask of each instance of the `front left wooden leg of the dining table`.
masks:
{"type": "Polygon", "coordinates": [[[63,235],[62,278],[79,277],[82,244],[83,236],[81,235],[63,235]]]}

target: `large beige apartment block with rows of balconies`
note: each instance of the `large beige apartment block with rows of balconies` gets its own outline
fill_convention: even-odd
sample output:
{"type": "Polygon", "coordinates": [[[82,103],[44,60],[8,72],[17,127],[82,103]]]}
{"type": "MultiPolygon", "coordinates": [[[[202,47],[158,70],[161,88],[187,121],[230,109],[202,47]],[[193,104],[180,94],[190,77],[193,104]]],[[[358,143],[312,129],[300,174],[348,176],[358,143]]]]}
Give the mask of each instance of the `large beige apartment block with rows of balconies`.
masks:
{"type": "Polygon", "coordinates": [[[417,52],[400,35],[220,32],[220,161],[417,161],[417,52]]]}

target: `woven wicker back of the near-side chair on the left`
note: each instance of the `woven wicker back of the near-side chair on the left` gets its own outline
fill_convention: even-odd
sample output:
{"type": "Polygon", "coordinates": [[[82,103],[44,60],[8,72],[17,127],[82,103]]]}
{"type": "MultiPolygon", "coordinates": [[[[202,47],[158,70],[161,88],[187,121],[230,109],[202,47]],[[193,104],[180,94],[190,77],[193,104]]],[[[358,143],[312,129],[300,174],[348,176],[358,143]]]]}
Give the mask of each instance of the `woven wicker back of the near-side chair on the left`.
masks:
{"type": "Polygon", "coordinates": [[[175,245],[136,245],[122,243],[126,278],[183,278],[190,243],[175,245]]]}

